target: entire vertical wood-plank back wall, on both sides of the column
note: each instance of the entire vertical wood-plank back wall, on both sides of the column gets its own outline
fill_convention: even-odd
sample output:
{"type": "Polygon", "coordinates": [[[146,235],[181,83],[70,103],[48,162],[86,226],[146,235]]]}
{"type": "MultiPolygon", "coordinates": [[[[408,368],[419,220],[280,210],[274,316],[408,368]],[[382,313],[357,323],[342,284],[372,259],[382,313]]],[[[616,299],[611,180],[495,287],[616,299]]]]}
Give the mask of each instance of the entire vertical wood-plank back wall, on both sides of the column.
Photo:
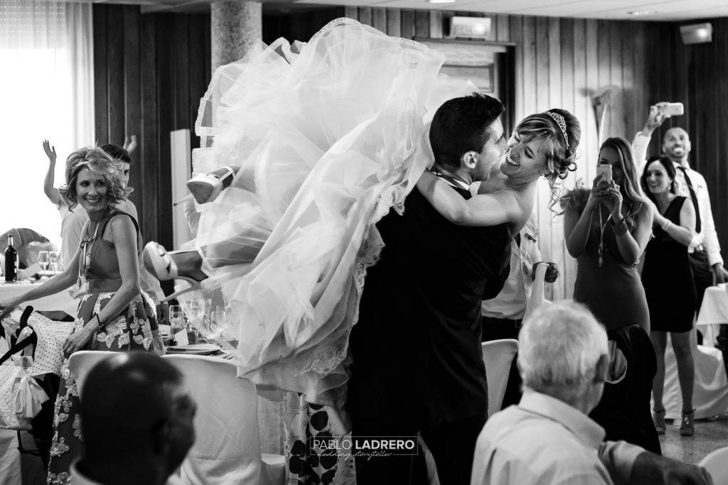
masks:
{"type": "MultiPolygon", "coordinates": [[[[347,16],[375,25],[405,39],[447,38],[451,11],[336,7],[305,15],[265,15],[264,41],[280,36],[307,40],[333,18],[347,16]],[[305,18],[304,18],[305,17],[305,18]]],[[[483,16],[457,12],[457,15],[483,16]]],[[[486,15],[487,16],[487,15],[486,15]]],[[[577,171],[565,181],[587,183],[598,155],[596,119],[590,95],[617,87],[616,119],[606,135],[630,139],[641,129],[649,105],[660,100],[683,101],[686,116],[672,119],[655,133],[652,153],[670,126],[684,126],[693,140],[692,163],[708,180],[721,237],[728,236],[728,142],[721,133],[728,123],[728,19],[713,20],[713,44],[683,46],[676,23],[611,20],[546,19],[491,15],[491,40],[513,45],[515,119],[561,105],[577,116],[582,127],[577,171]],[[671,57],[672,56],[672,57],[671,57]],[[664,62],[670,58],[673,62],[664,62]],[[725,195],[724,195],[725,193],[725,195]],[[726,222],[724,222],[726,221],[726,222]]],[[[95,109],[100,142],[121,143],[138,129],[139,168],[132,172],[143,231],[147,239],[170,244],[161,229],[169,215],[169,200],[157,182],[168,164],[168,130],[193,128],[199,97],[210,79],[210,22],[207,15],[139,15],[138,7],[95,4],[95,109]],[[124,28],[109,28],[119,25],[124,28]],[[136,38],[136,40],[134,39],[136,38]],[[186,45],[183,52],[171,46],[186,45]],[[137,59],[139,68],[135,72],[137,59]],[[135,81],[138,79],[138,87],[135,81]],[[137,113],[137,114],[135,114],[137,113]],[[138,128],[136,128],[138,127],[138,128]],[[165,197],[167,199],[165,199],[165,197]],[[155,214],[152,207],[159,207],[155,214]],[[147,220],[149,219],[149,220],[147,220]]],[[[192,137],[193,146],[199,141],[192,137]]],[[[574,261],[563,246],[563,221],[548,209],[548,193],[539,191],[542,252],[563,267],[561,280],[549,285],[548,297],[570,297],[574,261]]]]}

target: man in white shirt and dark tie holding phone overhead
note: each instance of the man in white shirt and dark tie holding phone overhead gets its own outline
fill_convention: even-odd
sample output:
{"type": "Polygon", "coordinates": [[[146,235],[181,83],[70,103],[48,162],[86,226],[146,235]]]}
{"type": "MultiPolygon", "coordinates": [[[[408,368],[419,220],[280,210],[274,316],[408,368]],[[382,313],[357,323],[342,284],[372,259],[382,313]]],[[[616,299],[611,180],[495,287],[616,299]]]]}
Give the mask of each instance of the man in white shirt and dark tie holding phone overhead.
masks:
{"type": "MultiPolygon", "coordinates": [[[[639,172],[645,167],[647,145],[652,138],[652,132],[660,127],[665,119],[670,116],[680,116],[682,113],[682,103],[657,103],[650,107],[644,128],[632,141],[635,164],[639,172]]],[[[728,271],[723,268],[721,245],[713,222],[708,185],[703,175],[691,169],[688,162],[691,149],[690,137],[684,129],[673,127],[665,132],[665,137],[662,138],[662,153],[675,164],[676,193],[691,199],[696,209],[695,236],[688,250],[695,277],[698,308],[700,308],[705,289],[714,282],[728,281],[728,271]]]]}

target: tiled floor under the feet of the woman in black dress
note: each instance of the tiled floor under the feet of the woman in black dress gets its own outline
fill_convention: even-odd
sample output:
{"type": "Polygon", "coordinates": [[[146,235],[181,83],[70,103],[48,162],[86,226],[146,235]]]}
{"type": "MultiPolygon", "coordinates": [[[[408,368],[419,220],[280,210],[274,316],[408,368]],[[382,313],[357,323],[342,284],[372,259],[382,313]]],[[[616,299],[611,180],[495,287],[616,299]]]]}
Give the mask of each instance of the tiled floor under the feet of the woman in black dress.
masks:
{"type": "Polygon", "coordinates": [[[680,422],[668,421],[668,429],[660,436],[662,454],[697,464],[714,449],[728,446],[728,415],[713,420],[695,421],[695,436],[680,436],[680,422]]]}

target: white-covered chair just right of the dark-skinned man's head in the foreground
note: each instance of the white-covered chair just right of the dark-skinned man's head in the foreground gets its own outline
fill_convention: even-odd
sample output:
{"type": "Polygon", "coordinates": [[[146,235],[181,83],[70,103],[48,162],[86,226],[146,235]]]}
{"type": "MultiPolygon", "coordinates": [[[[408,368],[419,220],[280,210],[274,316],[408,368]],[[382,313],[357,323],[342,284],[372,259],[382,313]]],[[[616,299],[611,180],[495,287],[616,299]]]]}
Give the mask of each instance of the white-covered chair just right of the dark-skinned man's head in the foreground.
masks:
{"type": "Polygon", "coordinates": [[[189,471],[207,485],[284,484],[284,457],[261,456],[256,386],[239,379],[235,364],[221,358],[164,358],[184,374],[197,403],[197,437],[182,463],[183,481],[189,471]]]}

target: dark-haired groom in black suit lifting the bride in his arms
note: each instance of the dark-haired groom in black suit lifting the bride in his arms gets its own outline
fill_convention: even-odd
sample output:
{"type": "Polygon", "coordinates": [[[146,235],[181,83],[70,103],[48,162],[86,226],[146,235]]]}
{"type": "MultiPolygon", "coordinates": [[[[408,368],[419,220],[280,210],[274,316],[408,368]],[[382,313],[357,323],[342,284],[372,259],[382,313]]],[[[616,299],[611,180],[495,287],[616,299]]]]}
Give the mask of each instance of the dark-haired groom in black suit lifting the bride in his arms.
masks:
{"type": "MultiPolygon", "coordinates": [[[[473,94],[448,100],[432,120],[434,170],[466,199],[502,156],[503,110],[499,100],[473,94]]],[[[368,270],[349,340],[352,436],[419,432],[440,483],[469,484],[488,411],[480,302],[508,275],[509,228],[453,225],[414,188],[403,215],[390,211],[376,230],[385,246],[368,270]]],[[[357,484],[411,483],[413,459],[357,457],[357,484]]]]}

